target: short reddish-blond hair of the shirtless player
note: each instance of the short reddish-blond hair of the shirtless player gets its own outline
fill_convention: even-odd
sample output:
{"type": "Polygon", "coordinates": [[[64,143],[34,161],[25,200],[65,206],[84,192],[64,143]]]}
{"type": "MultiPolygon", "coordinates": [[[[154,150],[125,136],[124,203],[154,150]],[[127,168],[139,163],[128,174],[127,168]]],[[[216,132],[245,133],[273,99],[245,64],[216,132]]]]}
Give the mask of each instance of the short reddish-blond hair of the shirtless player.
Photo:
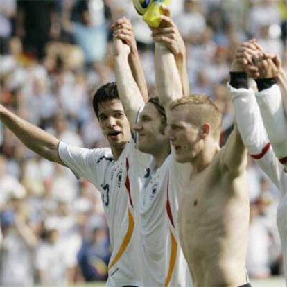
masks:
{"type": "Polygon", "coordinates": [[[196,125],[203,125],[203,123],[209,123],[211,126],[211,135],[219,139],[221,132],[221,123],[223,115],[209,96],[191,94],[190,96],[184,96],[176,101],[173,101],[170,106],[170,110],[174,110],[180,105],[188,105],[189,107],[195,107],[192,110],[192,123],[196,125]]]}

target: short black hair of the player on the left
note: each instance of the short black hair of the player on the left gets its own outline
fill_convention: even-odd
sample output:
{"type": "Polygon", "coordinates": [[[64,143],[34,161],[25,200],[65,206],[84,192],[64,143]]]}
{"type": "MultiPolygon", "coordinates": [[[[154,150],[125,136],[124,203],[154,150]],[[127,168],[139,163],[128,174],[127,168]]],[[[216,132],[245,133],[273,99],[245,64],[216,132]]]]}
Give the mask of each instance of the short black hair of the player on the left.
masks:
{"type": "Polygon", "coordinates": [[[98,118],[98,104],[107,101],[112,101],[114,99],[116,100],[120,99],[116,82],[108,82],[107,84],[99,87],[96,90],[96,93],[94,94],[93,98],[93,108],[97,118],[98,118]]]}

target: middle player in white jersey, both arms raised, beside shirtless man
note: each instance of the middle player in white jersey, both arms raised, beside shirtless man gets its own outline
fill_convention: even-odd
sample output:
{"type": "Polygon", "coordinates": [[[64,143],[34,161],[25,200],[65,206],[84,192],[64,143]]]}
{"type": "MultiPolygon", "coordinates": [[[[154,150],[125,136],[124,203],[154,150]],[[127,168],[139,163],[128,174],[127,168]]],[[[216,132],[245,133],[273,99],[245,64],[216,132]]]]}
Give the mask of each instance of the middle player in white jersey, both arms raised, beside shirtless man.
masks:
{"type": "MultiPolygon", "coordinates": [[[[168,17],[169,33],[159,28],[158,33],[173,37],[173,43],[168,46],[173,49],[177,58],[177,67],[182,75],[184,89],[180,82],[179,88],[170,91],[182,96],[188,89],[186,82],[185,50],[182,38],[175,24],[168,17]],[[185,68],[184,68],[185,67],[185,68]]],[[[114,62],[116,82],[119,95],[127,114],[135,114],[134,108],[139,89],[132,79],[128,66],[130,48],[133,42],[132,27],[127,19],[120,19],[114,25],[114,62]]],[[[175,67],[175,69],[177,69],[175,67]]],[[[172,82],[168,87],[173,88],[172,82]]],[[[160,93],[160,91],[158,91],[160,93]]],[[[130,124],[134,116],[130,116],[130,124]]],[[[144,176],[144,185],[140,196],[140,232],[143,250],[143,283],[146,287],[191,286],[191,279],[186,268],[180,243],[177,236],[177,206],[178,193],[182,189],[184,173],[189,175],[189,167],[175,163],[174,154],[166,132],[166,115],[164,107],[157,98],[150,98],[139,115],[139,121],[134,125],[137,132],[137,146],[144,153],[152,155],[144,176]]],[[[187,177],[187,176],[186,176],[187,177]]]]}

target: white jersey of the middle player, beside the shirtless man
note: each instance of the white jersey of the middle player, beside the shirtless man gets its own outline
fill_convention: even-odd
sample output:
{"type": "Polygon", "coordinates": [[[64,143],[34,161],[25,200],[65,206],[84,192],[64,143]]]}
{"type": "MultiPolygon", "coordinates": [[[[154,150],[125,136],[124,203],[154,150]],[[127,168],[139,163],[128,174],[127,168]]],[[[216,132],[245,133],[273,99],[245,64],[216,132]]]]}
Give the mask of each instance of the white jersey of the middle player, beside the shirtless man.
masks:
{"type": "Polygon", "coordinates": [[[175,163],[173,154],[157,169],[152,159],[146,169],[140,200],[146,287],[191,286],[186,283],[189,271],[177,235],[178,193],[189,171],[188,166],[175,163]]]}

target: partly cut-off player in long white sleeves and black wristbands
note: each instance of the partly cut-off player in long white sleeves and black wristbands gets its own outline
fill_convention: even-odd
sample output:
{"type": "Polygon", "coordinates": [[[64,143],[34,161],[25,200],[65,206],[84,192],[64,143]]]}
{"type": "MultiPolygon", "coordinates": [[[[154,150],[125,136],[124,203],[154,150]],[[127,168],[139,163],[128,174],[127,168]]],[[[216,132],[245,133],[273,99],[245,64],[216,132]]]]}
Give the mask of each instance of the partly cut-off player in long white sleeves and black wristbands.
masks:
{"type": "Polygon", "coordinates": [[[232,91],[236,122],[243,142],[251,157],[270,177],[281,193],[282,198],[277,209],[277,225],[287,283],[287,174],[285,160],[287,123],[284,114],[284,101],[280,92],[281,87],[283,95],[286,95],[286,75],[277,57],[266,57],[256,43],[245,42],[238,48],[236,60],[232,64],[229,87],[232,91]],[[255,66],[254,63],[256,63],[255,66]],[[250,67],[257,68],[255,80],[259,92],[256,94],[252,89],[248,89],[247,85],[246,72],[250,71],[250,67]],[[275,78],[279,85],[276,84],[275,78]]]}

